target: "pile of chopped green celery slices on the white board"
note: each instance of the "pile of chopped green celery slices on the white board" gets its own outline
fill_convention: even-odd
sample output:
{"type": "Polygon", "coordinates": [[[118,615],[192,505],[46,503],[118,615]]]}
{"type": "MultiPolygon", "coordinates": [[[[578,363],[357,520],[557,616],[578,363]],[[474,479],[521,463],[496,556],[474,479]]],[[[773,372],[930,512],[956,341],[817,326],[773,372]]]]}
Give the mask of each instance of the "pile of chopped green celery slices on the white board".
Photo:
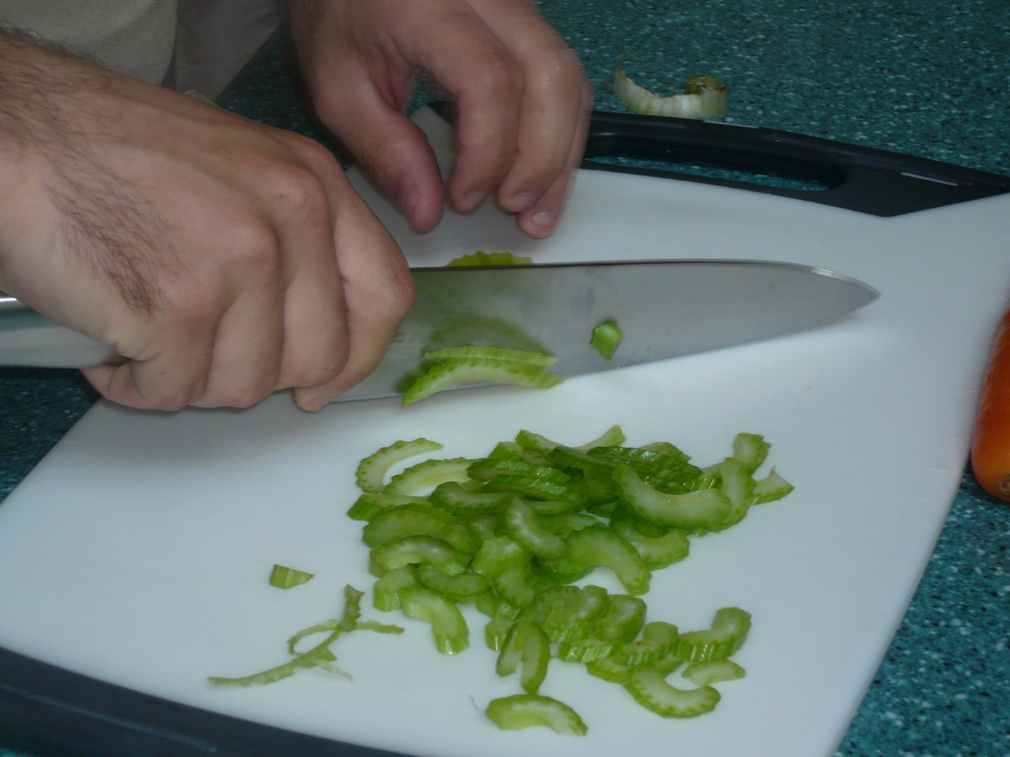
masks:
{"type": "Polygon", "coordinates": [[[706,467],[670,442],[624,444],[619,426],[571,447],[522,430],[487,457],[427,459],[381,489],[392,450],[401,460],[439,445],[397,442],[362,463],[363,494],[348,516],[365,522],[374,606],[429,624],[443,654],[470,645],[460,606],[487,616],[496,671],[518,673],[523,691],[488,705],[499,728],[586,733],[575,711],[539,693],[551,660],[585,665],[664,718],[710,712],[719,701],[712,684],[743,675],[729,656],[747,636],[748,613],[723,608],[710,628],[681,632],[646,622],[640,598],[652,571],[688,556],[691,537],[739,523],[792,485],[774,469],[754,478],[771,446],[756,434],[738,434],[732,454],[706,467]],[[625,593],[573,585],[599,568],[625,593]],[[668,682],[684,663],[684,684],[668,682]]]}

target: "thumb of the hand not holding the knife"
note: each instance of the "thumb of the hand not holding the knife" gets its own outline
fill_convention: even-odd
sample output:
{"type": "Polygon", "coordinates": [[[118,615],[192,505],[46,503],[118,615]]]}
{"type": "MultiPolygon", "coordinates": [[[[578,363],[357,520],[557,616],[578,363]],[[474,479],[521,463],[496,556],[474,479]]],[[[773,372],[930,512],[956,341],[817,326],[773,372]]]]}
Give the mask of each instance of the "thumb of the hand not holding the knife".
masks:
{"type": "Polygon", "coordinates": [[[424,132],[383,98],[363,70],[341,70],[320,85],[315,100],[319,117],[397,203],[410,227],[434,228],[441,220],[445,190],[424,132]]]}

